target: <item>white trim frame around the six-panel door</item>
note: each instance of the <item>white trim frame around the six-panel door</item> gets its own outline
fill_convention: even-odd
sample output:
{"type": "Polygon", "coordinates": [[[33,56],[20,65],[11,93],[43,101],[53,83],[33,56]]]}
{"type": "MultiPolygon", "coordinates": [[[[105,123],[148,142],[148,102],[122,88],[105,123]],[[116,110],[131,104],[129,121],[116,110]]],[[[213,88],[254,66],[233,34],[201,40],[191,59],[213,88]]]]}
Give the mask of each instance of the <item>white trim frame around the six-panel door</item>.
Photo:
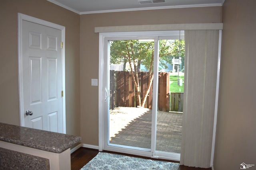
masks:
{"type": "MultiPolygon", "coordinates": [[[[20,98],[20,126],[24,123],[24,101],[23,101],[23,85],[22,85],[22,20],[30,21],[47,27],[52,27],[62,31],[61,41],[63,42],[62,51],[62,90],[65,93],[65,27],[48,21],[40,20],[31,16],[18,13],[18,70],[19,70],[19,98],[20,98]]],[[[66,133],[66,98],[62,97],[62,117],[63,117],[63,133],[66,133]]]]}

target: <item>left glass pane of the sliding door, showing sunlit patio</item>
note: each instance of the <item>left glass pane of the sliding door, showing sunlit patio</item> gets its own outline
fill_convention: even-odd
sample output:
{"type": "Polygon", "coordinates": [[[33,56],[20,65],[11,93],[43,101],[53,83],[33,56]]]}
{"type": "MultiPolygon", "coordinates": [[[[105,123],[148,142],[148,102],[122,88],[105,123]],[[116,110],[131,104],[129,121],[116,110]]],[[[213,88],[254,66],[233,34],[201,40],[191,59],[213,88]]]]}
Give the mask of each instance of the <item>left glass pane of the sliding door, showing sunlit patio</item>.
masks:
{"type": "Polygon", "coordinates": [[[146,105],[153,78],[154,39],[120,38],[108,41],[108,145],[149,150],[152,113],[146,105]]]}

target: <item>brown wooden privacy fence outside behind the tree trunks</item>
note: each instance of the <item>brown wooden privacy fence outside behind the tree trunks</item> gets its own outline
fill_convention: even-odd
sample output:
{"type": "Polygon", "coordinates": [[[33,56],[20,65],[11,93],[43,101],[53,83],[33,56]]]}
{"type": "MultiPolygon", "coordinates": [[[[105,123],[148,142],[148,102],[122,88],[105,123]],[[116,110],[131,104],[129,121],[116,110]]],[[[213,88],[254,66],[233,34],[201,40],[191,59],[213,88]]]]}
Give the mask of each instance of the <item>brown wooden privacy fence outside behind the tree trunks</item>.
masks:
{"type": "MultiPolygon", "coordinates": [[[[140,95],[143,97],[149,83],[149,72],[138,72],[138,77],[140,82],[140,95]]],[[[183,93],[171,93],[170,95],[169,80],[168,72],[158,73],[158,110],[182,111],[183,93]]],[[[152,91],[153,85],[150,87],[144,106],[149,109],[152,108],[152,91]]],[[[137,90],[132,80],[131,72],[110,70],[110,109],[114,109],[116,106],[137,107],[138,99],[136,92],[137,90]]]]}

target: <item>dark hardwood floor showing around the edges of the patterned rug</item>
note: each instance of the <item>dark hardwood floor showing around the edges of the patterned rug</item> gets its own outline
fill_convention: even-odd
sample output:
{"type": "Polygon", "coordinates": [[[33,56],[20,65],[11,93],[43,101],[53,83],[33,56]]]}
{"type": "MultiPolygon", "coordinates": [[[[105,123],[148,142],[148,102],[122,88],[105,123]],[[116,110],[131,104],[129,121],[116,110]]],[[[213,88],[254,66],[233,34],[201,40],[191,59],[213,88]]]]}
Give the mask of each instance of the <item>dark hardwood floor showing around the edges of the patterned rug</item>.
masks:
{"type": "MultiPolygon", "coordinates": [[[[71,170],[80,170],[85,164],[87,164],[92,158],[94,158],[98,154],[98,150],[96,149],[88,149],[84,147],[80,147],[78,150],[71,154],[71,170]]],[[[114,153],[114,152],[111,152],[114,153]]],[[[124,154],[128,155],[128,154],[124,154]]],[[[128,155],[131,156],[131,155],[128,155]]],[[[140,157],[140,156],[138,156],[140,157]]],[[[145,158],[145,157],[141,157],[145,158]]],[[[174,161],[175,162],[175,161],[174,161]]],[[[211,168],[194,168],[180,165],[178,170],[211,170],[211,168]]]]}

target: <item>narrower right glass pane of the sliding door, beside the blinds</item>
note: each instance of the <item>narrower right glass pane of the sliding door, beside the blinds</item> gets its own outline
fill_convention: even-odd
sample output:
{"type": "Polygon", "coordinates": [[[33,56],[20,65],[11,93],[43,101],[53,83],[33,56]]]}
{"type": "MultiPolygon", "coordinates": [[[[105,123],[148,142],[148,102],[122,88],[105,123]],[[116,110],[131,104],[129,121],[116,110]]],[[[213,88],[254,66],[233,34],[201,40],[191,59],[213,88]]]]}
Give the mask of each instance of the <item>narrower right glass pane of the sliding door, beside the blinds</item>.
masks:
{"type": "MultiPolygon", "coordinates": [[[[184,35],[184,34],[183,34],[184,35]]],[[[182,103],[184,92],[184,36],[160,37],[158,60],[158,109],[156,116],[156,154],[180,154],[182,131],[182,103]],[[178,38],[178,39],[177,39],[178,38]],[[164,51],[166,51],[164,53],[164,51]],[[168,67],[168,64],[171,64],[168,67]],[[172,70],[171,70],[172,68],[172,70]],[[174,109],[175,107],[175,109],[174,109]]]]}

